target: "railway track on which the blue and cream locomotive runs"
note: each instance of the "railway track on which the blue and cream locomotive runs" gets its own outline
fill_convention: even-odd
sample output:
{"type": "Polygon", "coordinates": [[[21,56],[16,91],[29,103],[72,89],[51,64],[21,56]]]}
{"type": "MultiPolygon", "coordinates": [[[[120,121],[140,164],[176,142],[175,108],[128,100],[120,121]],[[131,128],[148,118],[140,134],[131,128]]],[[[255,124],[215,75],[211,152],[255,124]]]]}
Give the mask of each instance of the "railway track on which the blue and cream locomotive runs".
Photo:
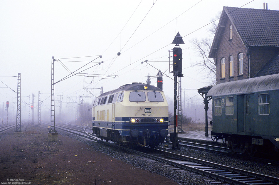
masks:
{"type": "Polygon", "coordinates": [[[92,134],[88,133],[85,130],[85,128],[82,128],[80,126],[70,125],[70,124],[67,125],[71,127],[74,126],[82,130],[68,128],[60,125],[57,125],[56,127],[66,132],[76,134],[81,137],[85,137],[87,139],[91,139],[95,142],[102,142],[113,147],[124,149],[127,152],[139,154],[144,157],[150,158],[152,160],[156,160],[158,162],[171,165],[174,168],[179,169],[180,172],[191,171],[196,174],[206,176],[206,178],[211,178],[212,180],[214,179],[213,181],[218,181],[218,182],[214,182],[214,184],[245,184],[245,185],[251,185],[251,184],[278,185],[279,184],[279,178],[276,177],[258,174],[251,171],[245,171],[242,169],[236,169],[230,166],[224,166],[221,164],[216,164],[201,159],[179,155],[172,152],[167,152],[159,149],[154,149],[154,150],[148,149],[144,152],[139,150],[134,150],[134,149],[128,149],[126,147],[118,146],[113,142],[101,141],[100,138],[93,136],[92,134]]]}

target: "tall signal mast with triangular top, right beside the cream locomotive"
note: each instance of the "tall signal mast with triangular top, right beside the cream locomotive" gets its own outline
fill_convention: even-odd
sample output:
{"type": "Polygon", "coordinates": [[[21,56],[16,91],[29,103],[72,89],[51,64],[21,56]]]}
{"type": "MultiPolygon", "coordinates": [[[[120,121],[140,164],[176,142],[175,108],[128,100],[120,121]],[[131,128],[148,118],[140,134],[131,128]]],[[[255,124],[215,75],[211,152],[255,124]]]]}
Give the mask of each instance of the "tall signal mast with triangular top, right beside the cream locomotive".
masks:
{"type": "Polygon", "coordinates": [[[173,76],[174,76],[174,132],[171,132],[171,141],[172,141],[172,149],[176,148],[180,150],[177,132],[178,132],[178,109],[177,109],[177,77],[183,77],[182,74],[182,49],[180,48],[180,44],[185,44],[180,36],[179,32],[174,37],[172,44],[175,44],[172,49],[172,68],[173,68],[173,76]]]}

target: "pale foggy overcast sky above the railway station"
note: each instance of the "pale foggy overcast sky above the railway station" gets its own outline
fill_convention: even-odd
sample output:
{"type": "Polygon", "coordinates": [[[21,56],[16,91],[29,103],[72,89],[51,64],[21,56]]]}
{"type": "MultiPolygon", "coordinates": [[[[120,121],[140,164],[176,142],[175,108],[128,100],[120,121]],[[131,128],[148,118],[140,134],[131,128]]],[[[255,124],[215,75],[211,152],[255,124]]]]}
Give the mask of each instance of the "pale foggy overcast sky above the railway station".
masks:
{"type": "MultiPolygon", "coordinates": [[[[17,77],[12,76],[21,73],[21,99],[28,101],[26,96],[34,93],[35,102],[38,102],[38,91],[41,91],[41,101],[47,99],[50,103],[52,56],[62,61],[70,72],[85,65],[84,62],[104,61],[84,71],[94,77],[73,76],[55,85],[56,100],[58,95],[63,95],[63,100],[75,99],[77,93],[83,95],[85,101],[92,102],[94,95],[100,95],[98,88],[101,86],[106,92],[126,83],[144,83],[148,73],[155,76],[157,69],[173,78],[169,73],[168,51],[174,47],[171,43],[179,31],[185,42],[181,45],[182,88],[208,86],[199,68],[191,67],[201,59],[196,57],[189,40],[206,38],[210,27],[206,25],[222,11],[223,6],[263,9],[265,2],[268,9],[279,10],[278,0],[250,1],[1,0],[0,80],[16,91],[17,77]],[[117,56],[118,52],[120,56],[117,56]],[[84,56],[93,57],[75,58],[84,56]],[[144,60],[157,69],[141,64],[144,60]],[[107,75],[115,75],[115,78],[105,78],[107,75]]],[[[55,82],[69,74],[58,61],[54,64],[54,71],[55,82]]],[[[168,97],[173,97],[173,80],[169,77],[163,78],[163,90],[168,97]]],[[[152,79],[152,85],[155,81],[152,79]]],[[[16,107],[16,93],[2,82],[0,102],[10,101],[10,105],[16,107]]],[[[196,91],[189,92],[187,96],[195,94],[196,91]]]]}

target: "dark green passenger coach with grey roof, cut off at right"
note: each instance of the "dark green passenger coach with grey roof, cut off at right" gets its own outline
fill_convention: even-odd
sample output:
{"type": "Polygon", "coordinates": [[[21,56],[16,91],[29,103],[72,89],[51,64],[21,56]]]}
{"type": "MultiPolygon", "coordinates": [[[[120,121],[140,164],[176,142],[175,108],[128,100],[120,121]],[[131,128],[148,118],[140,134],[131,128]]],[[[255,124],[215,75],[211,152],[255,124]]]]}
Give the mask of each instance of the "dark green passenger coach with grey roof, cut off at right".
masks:
{"type": "Polygon", "coordinates": [[[279,150],[279,74],[213,86],[211,137],[233,152],[279,150]]]}

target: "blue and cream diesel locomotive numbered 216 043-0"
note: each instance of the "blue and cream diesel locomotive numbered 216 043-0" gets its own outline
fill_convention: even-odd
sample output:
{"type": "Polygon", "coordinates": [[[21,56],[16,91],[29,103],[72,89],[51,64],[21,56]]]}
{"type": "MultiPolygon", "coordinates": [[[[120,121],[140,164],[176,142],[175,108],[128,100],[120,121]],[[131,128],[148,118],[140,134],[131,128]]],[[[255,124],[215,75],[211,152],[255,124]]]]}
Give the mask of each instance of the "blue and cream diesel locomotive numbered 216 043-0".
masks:
{"type": "Polygon", "coordinates": [[[142,83],[126,84],[95,99],[93,131],[106,141],[154,147],[168,135],[168,112],[161,89],[142,83]]]}

